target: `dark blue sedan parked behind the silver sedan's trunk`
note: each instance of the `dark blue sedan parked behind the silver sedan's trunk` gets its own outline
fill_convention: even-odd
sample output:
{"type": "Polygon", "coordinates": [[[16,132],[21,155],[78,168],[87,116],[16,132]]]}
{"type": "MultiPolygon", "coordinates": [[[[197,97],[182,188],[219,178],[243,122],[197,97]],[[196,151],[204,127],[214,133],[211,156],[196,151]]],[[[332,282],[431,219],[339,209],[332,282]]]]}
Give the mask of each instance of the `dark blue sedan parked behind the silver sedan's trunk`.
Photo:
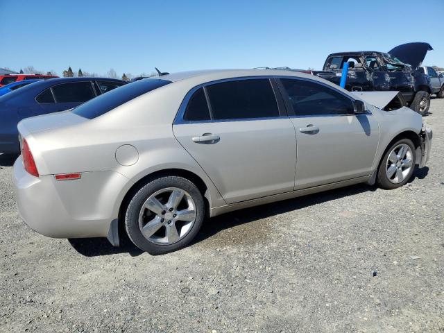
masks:
{"type": "Polygon", "coordinates": [[[121,85],[126,82],[114,78],[51,78],[0,96],[0,153],[20,152],[22,119],[75,108],[121,85]]]}

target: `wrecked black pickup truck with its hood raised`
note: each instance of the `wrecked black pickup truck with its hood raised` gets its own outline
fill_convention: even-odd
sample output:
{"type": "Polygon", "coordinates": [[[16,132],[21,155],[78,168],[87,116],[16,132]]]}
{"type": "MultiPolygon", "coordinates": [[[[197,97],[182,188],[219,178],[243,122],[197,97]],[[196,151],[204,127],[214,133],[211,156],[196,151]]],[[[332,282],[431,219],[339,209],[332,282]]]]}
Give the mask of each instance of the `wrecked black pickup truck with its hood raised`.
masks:
{"type": "Polygon", "coordinates": [[[323,71],[313,74],[339,85],[348,62],[345,89],[350,92],[398,91],[407,105],[422,116],[430,105],[430,78],[420,65],[432,46],[424,42],[402,44],[384,52],[355,51],[332,53],[323,71]]]}

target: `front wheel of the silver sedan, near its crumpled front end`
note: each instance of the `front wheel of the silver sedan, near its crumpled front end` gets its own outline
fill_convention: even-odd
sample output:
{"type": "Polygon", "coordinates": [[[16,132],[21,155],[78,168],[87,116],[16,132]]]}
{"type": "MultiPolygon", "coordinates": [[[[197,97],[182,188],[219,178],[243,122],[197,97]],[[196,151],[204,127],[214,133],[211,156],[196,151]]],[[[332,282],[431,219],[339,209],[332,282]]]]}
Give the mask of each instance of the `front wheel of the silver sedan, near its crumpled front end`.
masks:
{"type": "Polygon", "coordinates": [[[384,157],[382,157],[377,171],[377,183],[379,187],[382,187],[383,189],[396,189],[401,187],[409,181],[411,175],[413,175],[413,171],[415,171],[415,167],[416,154],[413,142],[411,142],[411,139],[400,139],[391,144],[386,150],[384,157]],[[409,149],[407,148],[404,154],[398,148],[407,146],[409,149]],[[391,155],[392,152],[394,152],[395,155],[391,155]],[[410,162],[406,162],[407,160],[410,160],[410,162]],[[406,167],[408,164],[410,164],[409,168],[406,167]],[[395,167],[395,171],[392,174],[393,167],[395,167]],[[401,169],[399,169],[399,167],[401,169]],[[398,170],[400,170],[401,173],[399,173],[398,170]]]}

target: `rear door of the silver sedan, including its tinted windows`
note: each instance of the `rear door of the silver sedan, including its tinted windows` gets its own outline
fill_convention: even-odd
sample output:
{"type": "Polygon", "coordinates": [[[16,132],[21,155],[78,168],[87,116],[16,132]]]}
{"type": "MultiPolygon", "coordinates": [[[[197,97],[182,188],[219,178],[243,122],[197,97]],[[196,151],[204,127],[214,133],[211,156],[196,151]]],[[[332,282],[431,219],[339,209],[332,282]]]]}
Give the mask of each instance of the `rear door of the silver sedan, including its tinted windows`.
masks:
{"type": "Polygon", "coordinates": [[[292,191],[296,137],[268,78],[191,90],[173,132],[227,203],[292,191]]]}

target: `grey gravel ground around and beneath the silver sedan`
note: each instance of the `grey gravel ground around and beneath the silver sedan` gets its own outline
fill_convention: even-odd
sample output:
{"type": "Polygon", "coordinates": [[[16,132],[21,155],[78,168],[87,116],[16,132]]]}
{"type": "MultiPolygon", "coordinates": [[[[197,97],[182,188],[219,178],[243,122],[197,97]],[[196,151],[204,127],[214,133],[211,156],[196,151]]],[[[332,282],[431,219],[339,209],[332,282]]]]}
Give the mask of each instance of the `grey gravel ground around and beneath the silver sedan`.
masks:
{"type": "Polygon", "coordinates": [[[33,232],[0,156],[0,331],[444,332],[444,100],[431,112],[407,186],[225,214],[157,257],[33,232]]]}

